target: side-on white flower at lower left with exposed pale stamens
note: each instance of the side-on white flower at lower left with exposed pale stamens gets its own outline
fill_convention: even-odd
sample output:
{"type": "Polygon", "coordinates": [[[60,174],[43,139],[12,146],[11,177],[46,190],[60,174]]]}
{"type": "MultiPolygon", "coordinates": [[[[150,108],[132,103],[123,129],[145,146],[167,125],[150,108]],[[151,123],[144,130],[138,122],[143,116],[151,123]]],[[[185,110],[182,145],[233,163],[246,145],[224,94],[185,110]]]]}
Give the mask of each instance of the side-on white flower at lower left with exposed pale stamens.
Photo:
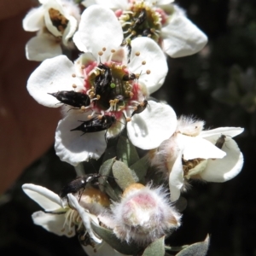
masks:
{"type": "Polygon", "coordinates": [[[88,232],[94,241],[98,243],[102,241],[94,235],[90,227],[90,221],[98,224],[96,216],[81,207],[74,195],[67,195],[68,204],[63,207],[59,195],[49,189],[34,184],[24,184],[22,189],[26,195],[44,208],[44,212],[39,211],[32,214],[34,224],[38,224],[58,236],[71,237],[75,236],[76,230],[84,230],[84,234],[88,232]],[[69,205],[73,208],[70,208],[69,205]]]}

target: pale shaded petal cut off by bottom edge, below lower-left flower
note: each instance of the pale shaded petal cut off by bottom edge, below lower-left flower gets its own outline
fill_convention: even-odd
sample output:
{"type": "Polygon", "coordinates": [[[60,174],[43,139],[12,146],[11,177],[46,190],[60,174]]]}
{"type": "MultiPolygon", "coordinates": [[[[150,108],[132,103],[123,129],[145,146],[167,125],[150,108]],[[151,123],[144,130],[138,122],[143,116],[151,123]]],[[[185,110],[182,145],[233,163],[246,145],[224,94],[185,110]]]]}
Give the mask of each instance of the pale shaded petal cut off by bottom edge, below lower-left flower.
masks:
{"type": "MultiPolygon", "coordinates": [[[[96,247],[83,247],[84,252],[88,255],[94,256],[125,256],[126,254],[119,253],[113,249],[106,241],[102,241],[100,244],[96,244],[96,247]],[[96,251],[95,251],[96,250],[96,251]]],[[[126,255],[127,256],[127,255],[126,255]]]]}

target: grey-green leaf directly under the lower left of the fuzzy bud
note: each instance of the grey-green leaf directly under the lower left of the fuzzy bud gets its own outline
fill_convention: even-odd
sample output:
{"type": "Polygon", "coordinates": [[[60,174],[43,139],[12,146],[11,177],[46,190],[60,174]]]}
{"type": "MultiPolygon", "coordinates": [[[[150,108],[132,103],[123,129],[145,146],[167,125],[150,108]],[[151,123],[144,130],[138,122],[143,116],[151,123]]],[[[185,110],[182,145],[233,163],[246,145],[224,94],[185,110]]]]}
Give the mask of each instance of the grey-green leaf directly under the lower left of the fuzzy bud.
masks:
{"type": "MultiPolygon", "coordinates": [[[[141,249],[137,246],[136,243],[130,242],[129,244],[125,241],[120,241],[114,234],[112,230],[108,230],[102,228],[101,226],[91,222],[92,230],[96,232],[98,236],[102,238],[102,240],[108,242],[108,244],[117,250],[119,253],[124,254],[137,254],[137,252],[141,249]]],[[[157,255],[157,254],[155,254],[157,255]]]]}

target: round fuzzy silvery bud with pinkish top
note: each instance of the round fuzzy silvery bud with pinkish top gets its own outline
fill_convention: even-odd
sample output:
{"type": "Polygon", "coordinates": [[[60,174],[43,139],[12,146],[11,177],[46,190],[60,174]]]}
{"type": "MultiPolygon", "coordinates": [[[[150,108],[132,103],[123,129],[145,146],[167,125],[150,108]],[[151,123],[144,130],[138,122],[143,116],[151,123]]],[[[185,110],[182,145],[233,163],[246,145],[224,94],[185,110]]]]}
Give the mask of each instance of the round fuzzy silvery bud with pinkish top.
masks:
{"type": "Polygon", "coordinates": [[[181,215],[170,206],[162,188],[133,183],[111,210],[111,215],[99,218],[122,241],[147,245],[180,226],[181,215]]]}

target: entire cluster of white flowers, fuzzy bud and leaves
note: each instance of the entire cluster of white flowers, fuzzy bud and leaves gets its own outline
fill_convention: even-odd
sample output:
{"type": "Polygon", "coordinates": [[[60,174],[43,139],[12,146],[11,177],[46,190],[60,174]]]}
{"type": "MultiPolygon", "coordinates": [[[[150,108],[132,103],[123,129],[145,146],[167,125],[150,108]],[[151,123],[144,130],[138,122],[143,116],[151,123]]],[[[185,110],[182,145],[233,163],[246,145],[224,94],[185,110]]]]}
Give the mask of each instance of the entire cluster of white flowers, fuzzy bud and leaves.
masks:
{"type": "Polygon", "coordinates": [[[59,195],[34,184],[22,188],[44,208],[33,213],[34,223],[78,236],[89,255],[164,251],[163,237],[181,225],[176,201],[189,181],[225,182],[241,171],[232,137],[242,128],[204,130],[204,121],[177,119],[151,97],[165,82],[166,55],[193,55],[207,44],[172,2],[85,0],[82,11],[72,1],[39,0],[23,20],[26,31],[38,32],[26,57],[43,61],[27,90],[45,107],[61,107],[55,152],[82,176],[59,195]],[[148,154],[139,158],[135,147],[148,154]],[[103,159],[99,172],[84,173],[90,159],[103,159]],[[163,174],[160,182],[148,178],[150,169],[163,174]]]}

